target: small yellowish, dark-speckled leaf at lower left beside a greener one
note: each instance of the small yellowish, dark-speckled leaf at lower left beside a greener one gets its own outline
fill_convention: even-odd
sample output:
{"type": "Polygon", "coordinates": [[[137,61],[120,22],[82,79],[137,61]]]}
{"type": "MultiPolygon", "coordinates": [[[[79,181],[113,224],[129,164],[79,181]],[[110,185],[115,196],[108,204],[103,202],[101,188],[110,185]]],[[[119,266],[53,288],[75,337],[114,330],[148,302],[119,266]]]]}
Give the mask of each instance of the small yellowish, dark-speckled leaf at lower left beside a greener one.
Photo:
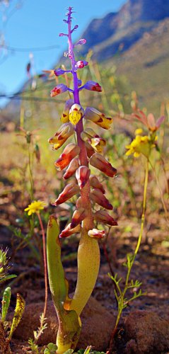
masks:
{"type": "Polygon", "coordinates": [[[18,326],[19,322],[21,321],[21,318],[23,316],[23,311],[25,309],[25,300],[20,294],[17,294],[16,297],[16,308],[13,316],[13,321],[11,324],[11,331],[9,333],[8,339],[10,340],[13,332],[16,330],[16,327],[18,326]]]}

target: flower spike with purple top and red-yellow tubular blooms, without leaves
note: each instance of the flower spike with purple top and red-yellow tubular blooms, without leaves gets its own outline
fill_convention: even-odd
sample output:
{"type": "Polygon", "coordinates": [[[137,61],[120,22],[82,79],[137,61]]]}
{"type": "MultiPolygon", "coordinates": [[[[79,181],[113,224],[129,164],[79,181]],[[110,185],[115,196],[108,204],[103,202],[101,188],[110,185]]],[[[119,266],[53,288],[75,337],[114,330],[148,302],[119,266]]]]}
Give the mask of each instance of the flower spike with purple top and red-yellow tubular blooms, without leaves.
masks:
{"type": "Polygon", "coordinates": [[[115,226],[117,222],[105,211],[112,210],[112,205],[105,197],[105,189],[98,177],[91,174],[90,165],[98,169],[98,174],[101,171],[111,178],[115,176],[117,170],[103,157],[105,139],[95,134],[93,129],[87,128],[84,130],[83,123],[88,121],[90,126],[93,125],[94,127],[96,124],[103,129],[110,129],[112,118],[105,117],[103,113],[95,108],[86,107],[84,110],[81,106],[79,94],[83,89],[101,92],[102,88],[95,81],[87,81],[82,86],[81,81],[78,79],[78,69],[86,67],[88,62],[86,60],[76,61],[74,56],[74,47],[85,44],[86,40],[78,40],[73,45],[71,34],[78,28],[78,25],[71,28],[72,13],[72,8],[69,7],[66,14],[67,19],[64,20],[68,26],[68,33],[59,34],[60,37],[68,38],[69,51],[66,52],[66,55],[71,61],[71,69],[63,70],[58,68],[53,72],[56,76],[63,75],[65,72],[71,73],[74,79],[74,88],[70,89],[65,84],[58,84],[51,91],[52,97],[69,91],[72,94],[72,98],[69,98],[64,106],[64,112],[61,117],[61,121],[64,124],[53,137],[49,138],[49,144],[53,144],[53,149],[57,150],[74,134],[76,134],[77,143],[67,144],[59,159],[54,163],[59,171],[66,169],[64,171],[65,180],[73,179],[68,181],[68,184],[66,184],[53,205],[57,206],[74,195],[78,195],[76,210],[71,223],[66,226],[60,236],[66,237],[80,232],[82,226],[88,232],[89,237],[102,239],[105,236],[105,230],[97,229],[97,224],[115,226]],[[93,210],[93,205],[95,210],[93,210]]]}

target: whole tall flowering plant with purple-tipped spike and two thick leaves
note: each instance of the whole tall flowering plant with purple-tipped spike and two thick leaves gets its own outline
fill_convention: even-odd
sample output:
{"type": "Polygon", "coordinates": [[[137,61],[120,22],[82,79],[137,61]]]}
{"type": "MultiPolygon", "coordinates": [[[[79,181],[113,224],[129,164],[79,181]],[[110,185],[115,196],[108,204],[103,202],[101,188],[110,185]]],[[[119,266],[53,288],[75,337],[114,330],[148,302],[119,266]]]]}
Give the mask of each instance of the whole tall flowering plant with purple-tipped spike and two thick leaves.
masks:
{"type": "MultiPolygon", "coordinates": [[[[57,96],[60,93],[69,91],[73,98],[66,101],[64,112],[61,117],[63,125],[56,134],[49,138],[49,144],[57,150],[62,147],[64,142],[76,134],[77,144],[70,143],[64,147],[64,151],[55,161],[54,165],[58,171],[66,169],[64,179],[73,178],[66,184],[62,193],[53,203],[54,206],[60,205],[69,200],[74,195],[78,195],[76,210],[69,223],[61,234],[57,220],[52,215],[49,217],[47,228],[47,263],[49,274],[49,285],[52,292],[54,307],[59,319],[59,330],[57,333],[57,353],[62,354],[69,348],[74,349],[78,342],[78,336],[81,331],[80,314],[86,305],[95,281],[98,277],[100,266],[100,251],[98,240],[103,239],[105,230],[97,228],[98,222],[110,226],[117,225],[117,222],[106,211],[112,210],[112,205],[105,197],[103,185],[98,177],[91,174],[89,164],[106,176],[114,177],[117,170],[103,156],[105,139],[95,133],[93,129],[83,128],[83,122],[92,122],[102,127],[110,129],[112,118],[106,117],[97,109],[87,107],[85,110],[81,106],[79,93],[83,90],[101,92],[101,86],[94,81],[87,81],[83,86],[78,80],[78,69],[82,69],[88,62],[85,60],[76,61],[74,56],[74,46],[71,33],[78,28],[75,25],[71,29],[72,8],[68,8],[67,19],[64,22],[68,25],[68,33],[60,33],[60,36],[66,36],[69,43],[69,51],[66,53],[71,60],[71,70],[54,70],[56,76],[69,72],[73,76],[74,89],[70,89],[65,84],[58,84],[51,91],[51,96],[57,96]],[[75,176],[74,176],[75,175],[75,176]],[[93,205],[99,205],[103,209],[93,210],[93,205]],[[106,209],[106,210],[105,210],[106,209]],[[96,222],[96,224],[95,224],[96,222]],[[68,296],[68,282],[64,278],[64,270],[60,259],[59,237],[67,237],[71,234],[81,232],[81,239],[78,246],[78,278],[76,290],[73,299],[68,296]]],[[[86,40],[79,40],[76,45],[83,45],[86,40]]]]}

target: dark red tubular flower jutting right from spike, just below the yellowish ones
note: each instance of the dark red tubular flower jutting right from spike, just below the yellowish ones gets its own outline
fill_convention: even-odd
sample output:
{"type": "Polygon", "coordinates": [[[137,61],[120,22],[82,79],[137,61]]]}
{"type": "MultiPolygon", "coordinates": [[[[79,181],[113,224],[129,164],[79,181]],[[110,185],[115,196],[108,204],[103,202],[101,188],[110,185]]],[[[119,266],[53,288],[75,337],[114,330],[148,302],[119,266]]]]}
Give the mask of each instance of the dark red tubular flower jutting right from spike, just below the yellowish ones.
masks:
{"type": "Polygon", "coordinates": [[[117,169],[112,167],[110,162],[108,162],[105,159],[105,157],[103,157],[100,154],[97,154],[97,153],[93,154],[93,156],[91,156],[91,159],[90,159],[90,164],[92,166],[94,166],[96,169],[105,173],[106,176],[114,177],[115,174],[117,173],[117,169]]]}

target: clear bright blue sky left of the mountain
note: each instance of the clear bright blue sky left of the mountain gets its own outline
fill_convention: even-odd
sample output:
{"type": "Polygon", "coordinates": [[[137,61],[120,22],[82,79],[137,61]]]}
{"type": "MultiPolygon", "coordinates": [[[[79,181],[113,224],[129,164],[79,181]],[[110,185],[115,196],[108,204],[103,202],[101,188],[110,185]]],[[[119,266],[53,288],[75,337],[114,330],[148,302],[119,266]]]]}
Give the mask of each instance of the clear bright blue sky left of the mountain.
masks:
{"type": "MultiPolygon", "coordinates": [[[[0,4],[0,42],[4,38],[7,47],[0,47],[0,94],[15,93],[27,79],[25,67],[33,53],[34,71],[52,69],[52,64],[66,49],[66,39],[59,33],[66,30],[62,21],[66,8],[74,7],[74,24],[78,39],[93,18],[118,11],[126,0],[4,0],[0,4]],[[6,4],[9,3],[9,6],[6,4]],[[19,7],[19,8],[18,8],[19,7]],[[18,8],[18,9],[17,9],[18,8]],[[54,46],[52,50],[34,50],[54,46]],[[19,51],[25,50],[25,51],[19,51]]],[[[0,99],[0,106],[4,100],[0,99]]]]}

